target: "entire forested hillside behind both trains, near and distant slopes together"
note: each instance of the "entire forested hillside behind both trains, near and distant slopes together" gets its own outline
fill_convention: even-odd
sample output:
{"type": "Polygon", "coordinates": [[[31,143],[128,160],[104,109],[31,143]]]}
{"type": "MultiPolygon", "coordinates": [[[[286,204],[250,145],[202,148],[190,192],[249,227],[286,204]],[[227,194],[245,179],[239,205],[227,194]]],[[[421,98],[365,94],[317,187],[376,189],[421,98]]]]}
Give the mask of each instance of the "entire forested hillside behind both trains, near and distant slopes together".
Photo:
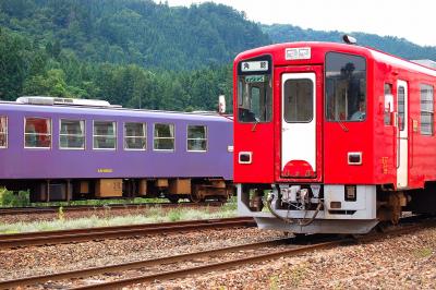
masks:
{"type": "MultiPolygon", "coordinates": [[[[408,59],[436,60],[434,47],[355,36],[408,59]]],[[[341,41],[341,33],[255,24],[243,12],[214,3],[0,0],[0,99],[48,95],[215,110],[218,95],[231,101],[231,63],[239,52],[294,40],[341,41]]]]}

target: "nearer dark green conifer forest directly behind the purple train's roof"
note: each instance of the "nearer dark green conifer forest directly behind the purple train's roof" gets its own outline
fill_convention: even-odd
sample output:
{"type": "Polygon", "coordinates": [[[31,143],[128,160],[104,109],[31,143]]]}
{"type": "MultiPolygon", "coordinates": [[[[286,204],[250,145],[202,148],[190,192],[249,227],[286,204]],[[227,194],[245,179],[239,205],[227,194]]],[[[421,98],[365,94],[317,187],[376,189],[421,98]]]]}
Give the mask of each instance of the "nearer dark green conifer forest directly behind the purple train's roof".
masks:
{"type": "Polygon", "coordinates": [[[231,96],[231,65],[149,71],[137,64],[83,62],[68,50],[35,47],[0,31],[0,99],[21,95],[99,98],[132,108],[213,110],[231,96]]]}

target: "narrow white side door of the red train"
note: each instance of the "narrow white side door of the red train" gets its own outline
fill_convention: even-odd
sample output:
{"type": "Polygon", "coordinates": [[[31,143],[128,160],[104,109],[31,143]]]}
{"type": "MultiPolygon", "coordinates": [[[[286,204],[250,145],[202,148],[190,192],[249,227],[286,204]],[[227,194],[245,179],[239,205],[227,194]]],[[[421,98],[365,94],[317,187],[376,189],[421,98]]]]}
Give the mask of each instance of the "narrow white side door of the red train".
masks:
{"type": "Polygon", "coordinates": [[[409,168],[409,108],[408,83],[397,81],[397,188],[408,186],[409,168]]]}

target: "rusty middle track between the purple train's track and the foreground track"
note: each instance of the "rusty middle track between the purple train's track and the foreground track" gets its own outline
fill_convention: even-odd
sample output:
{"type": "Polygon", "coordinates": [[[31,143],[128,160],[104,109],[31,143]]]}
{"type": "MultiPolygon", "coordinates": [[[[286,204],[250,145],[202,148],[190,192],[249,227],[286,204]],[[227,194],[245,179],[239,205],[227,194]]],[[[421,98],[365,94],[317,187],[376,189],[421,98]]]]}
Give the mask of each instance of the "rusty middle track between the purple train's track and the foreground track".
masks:
{"type": "Polygon", "coordinates": [[[187,220],[179,222],[144,223],[133,226],[100,227],[59,231],[39,231],[0,234],[0,249],[73,243],[102,239],[117,239],[162,232],[180,232],[217,228],[254,227],[253,218],[187,220]]]}

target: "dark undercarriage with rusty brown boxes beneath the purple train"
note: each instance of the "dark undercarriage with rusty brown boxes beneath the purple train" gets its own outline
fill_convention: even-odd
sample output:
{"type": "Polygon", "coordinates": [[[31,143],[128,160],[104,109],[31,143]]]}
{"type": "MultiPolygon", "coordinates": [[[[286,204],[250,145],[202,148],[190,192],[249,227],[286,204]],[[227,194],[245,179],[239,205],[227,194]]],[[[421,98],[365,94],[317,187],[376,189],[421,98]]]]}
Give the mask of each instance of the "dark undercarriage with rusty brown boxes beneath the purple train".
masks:
{"type": "Polygon", "coordinates": [[[31,202],[133,197],[226,202],[234,192],[232,183],[221,178],[1,180],[0,186],[28,190],[31,202]]]}

